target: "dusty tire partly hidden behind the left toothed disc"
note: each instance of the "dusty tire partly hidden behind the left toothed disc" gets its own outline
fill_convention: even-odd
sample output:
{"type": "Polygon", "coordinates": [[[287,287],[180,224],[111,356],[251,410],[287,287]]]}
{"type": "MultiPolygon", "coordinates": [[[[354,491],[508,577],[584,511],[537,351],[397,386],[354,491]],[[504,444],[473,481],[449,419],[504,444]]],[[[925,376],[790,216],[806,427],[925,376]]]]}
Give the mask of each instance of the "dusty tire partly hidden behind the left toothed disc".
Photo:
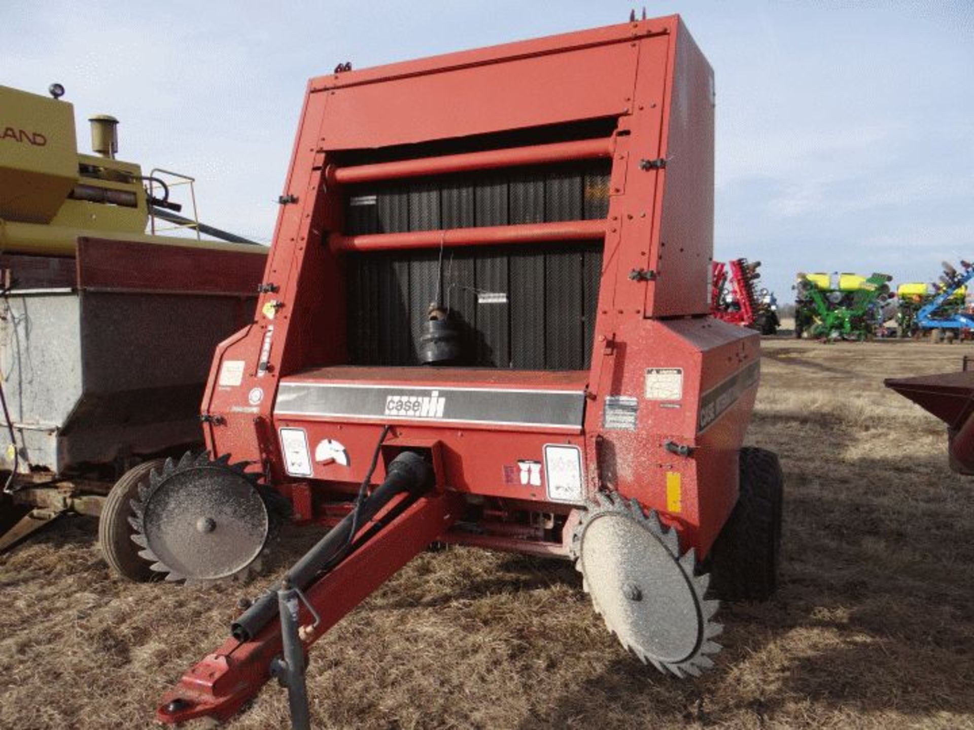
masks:
{"type": "Polygon", "coordinates": [[[118,575],[144,583],[158,575],[149,569],[148,561],[138,556],[138,545],[131,541],[131,499],[138,485],[149,478],[153,469],[162,471],[165,459],[156,458],[133,466],[115,483],[105,498],[98,519],[98,544],[105,563],[118,575]]]}

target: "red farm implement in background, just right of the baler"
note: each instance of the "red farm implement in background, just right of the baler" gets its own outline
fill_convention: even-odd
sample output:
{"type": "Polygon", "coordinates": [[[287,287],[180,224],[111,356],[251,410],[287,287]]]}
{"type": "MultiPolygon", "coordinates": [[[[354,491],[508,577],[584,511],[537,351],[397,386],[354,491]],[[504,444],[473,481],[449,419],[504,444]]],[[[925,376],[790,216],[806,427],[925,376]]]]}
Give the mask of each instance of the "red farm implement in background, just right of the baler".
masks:
{"type": "Polygon", "coordinates": [[[762,335],[778,331],[778,307],[768,289],[758,288],[760,261],[715,261],[710,282],[710,313],[725,322],[750,327],[762,335]]]}

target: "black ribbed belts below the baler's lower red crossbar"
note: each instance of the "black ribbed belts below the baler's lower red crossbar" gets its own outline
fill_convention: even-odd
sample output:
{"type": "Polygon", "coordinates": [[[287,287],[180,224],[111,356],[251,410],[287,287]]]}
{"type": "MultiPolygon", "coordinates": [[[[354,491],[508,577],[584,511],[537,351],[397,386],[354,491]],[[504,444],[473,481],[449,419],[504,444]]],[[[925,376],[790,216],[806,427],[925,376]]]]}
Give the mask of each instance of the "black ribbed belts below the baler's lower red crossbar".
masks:
{"type": "Polygon", "coordinates": [[[566,241],[350,254],[349,364],[420,363],[427,311],[440,304],[460,331],[458,365],[583,370],[591,361],[602,246],[566,241]]]}

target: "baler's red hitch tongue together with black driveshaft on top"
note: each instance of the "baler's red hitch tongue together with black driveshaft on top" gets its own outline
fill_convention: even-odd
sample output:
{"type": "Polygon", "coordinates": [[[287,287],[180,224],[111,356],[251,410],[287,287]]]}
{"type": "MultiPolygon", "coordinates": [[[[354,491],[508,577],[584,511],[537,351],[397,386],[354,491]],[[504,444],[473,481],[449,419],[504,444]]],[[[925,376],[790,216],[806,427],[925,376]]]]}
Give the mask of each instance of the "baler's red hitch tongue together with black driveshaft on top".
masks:
{"type": "MultiPolygon", "coordinates": [[[[307,597],[298,610],[302,631],[297,649],[307,650],[456,522],[462,498],[457,493],[430,492],[431,483],[431,467],[421,456],[411,452],[396,456],[386,480],[359,506],[357,519],[355,513],[348,515],[288,570],[287,585],[303,588],[307,597]],[[354,523],[360,527],[353,535],[354,523]],[[326,572],[321,575],[321,570],[326,572]]],[[[233,636],[164,696],[157,719],[167,723],[203,716],[227,720],[256,696],[275,675],[275,668],[281,667],[286,640],[281,623],[274,621],[278,606],[278,592],[269,591],[244,611],[232,627],[233,636]]],[[[284,661],[290,667],[293,659],[284,656],[284,661]]],[[[288,681],[293,676],[289,673],[288,681]]],[[[288,689],[294,692],[291,684],[288,689]]]]}

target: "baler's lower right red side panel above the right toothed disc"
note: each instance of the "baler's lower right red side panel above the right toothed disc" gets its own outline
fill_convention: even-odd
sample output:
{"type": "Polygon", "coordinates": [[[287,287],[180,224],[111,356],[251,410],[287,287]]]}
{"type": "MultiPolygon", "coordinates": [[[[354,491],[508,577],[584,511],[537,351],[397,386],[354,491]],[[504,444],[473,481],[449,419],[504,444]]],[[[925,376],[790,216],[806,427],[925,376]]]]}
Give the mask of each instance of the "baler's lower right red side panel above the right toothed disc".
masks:
{"type": "Polygon", "coordinates": [[[623,324],[586,418],[589,483],[664,513],[705,554],[737,497],[737,450],[757,393],[759,340],[711,318],[623,324]],[[669,394],[654,387],[663,373],[673,374],[669,394]],[[634,430],[606,427],[607,404],[618,398],[636,404],[634,430]],[[693,452],[674,454],[667,441],[693,452]]]}

